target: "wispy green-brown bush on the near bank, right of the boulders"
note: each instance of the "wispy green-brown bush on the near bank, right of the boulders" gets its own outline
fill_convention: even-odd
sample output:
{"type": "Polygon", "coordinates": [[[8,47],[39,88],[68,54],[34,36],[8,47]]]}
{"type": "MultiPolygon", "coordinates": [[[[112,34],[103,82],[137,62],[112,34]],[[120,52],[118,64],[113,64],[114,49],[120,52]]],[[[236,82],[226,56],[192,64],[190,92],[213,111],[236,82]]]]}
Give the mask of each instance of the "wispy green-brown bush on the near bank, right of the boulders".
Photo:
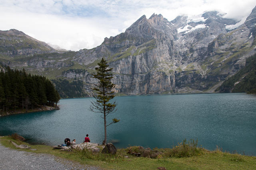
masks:
{"type": "Polygon", "coordinates": [[[178,143],[177,146],[172,147],[172,149],[168,150],[164,153],[164,156],[166,157],[190,157],[190,156],[197,156],[200,155],[203,151],[202,148],[197,147],[198,140],[190,140],[186,141],[186,139],[183,140],[183,142],[178,143]]]}

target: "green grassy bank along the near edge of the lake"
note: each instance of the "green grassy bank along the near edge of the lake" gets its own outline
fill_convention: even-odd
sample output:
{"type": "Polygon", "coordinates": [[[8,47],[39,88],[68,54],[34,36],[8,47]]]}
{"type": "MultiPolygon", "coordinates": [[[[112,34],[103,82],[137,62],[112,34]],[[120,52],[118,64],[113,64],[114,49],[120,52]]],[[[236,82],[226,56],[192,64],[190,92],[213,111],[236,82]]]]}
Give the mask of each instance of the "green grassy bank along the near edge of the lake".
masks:
{"type": "MultiPolygon", "coordinates": [[[[25,144],[32,149],[23,149],[28,152],[46,153],[65,158],[80,164],[88,164],[99,166],[104,169],[146,169],[156,170],[158,167],[168,169],[256,169],[255,156],[243,156],[240,154],[230,154],[221,152],[219,149],[209,151],[205,149],[190,150],[184,143],[178,144],[172,149],[154,149],[152,152],[161,152],[157,158],[136,157],[129,153],[139,151],[140,147],[129,147],[127,149],[118,149],[115,156],[109,154],[96,153],[93,154],[90,150],[83,151],[62,151],[52,149],[46,145],[29,145],[22,141],[16,141],[11,137],[1,137],[2,145],[11,149],[17,149],[10,142],[14,141],[18,145],[25,144]],[[184,150],[187,150],[184,152],[184,150]],[[185,155],[185,153],[189,153],[185,155]],[[181,157],[182,155],[182,157],[181,157]]],[[[191,144],[191,143],[190,143],[191,144]]],[[[195,148],[194,148],[195,149],[195,148]]],[[[18,149],[22,150],[22,149],[18,149]]]]}

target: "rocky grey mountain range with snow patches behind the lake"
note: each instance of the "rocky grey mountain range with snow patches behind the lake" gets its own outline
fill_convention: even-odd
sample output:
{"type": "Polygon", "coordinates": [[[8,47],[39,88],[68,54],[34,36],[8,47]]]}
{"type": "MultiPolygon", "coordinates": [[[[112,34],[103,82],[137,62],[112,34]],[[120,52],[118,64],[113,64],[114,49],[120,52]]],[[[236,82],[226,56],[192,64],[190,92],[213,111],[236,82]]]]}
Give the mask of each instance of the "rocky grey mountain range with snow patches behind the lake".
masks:
{"type": "MultiPolygon", "coordinates": [[[[256,7],[237,25],[216,11],[172,21],[153,14],[98,47],[80,51],[58,51],[10,29],[0,31],[0,64],[44,75],[58,86],[58,81],[79,81],[78,96],[92,96],[91,75],[102,57],[113,68],[116,94],[214,92],[256,53],[256,7]]],[[[70,97],[63,87],[57,89],[70,97]]]]}

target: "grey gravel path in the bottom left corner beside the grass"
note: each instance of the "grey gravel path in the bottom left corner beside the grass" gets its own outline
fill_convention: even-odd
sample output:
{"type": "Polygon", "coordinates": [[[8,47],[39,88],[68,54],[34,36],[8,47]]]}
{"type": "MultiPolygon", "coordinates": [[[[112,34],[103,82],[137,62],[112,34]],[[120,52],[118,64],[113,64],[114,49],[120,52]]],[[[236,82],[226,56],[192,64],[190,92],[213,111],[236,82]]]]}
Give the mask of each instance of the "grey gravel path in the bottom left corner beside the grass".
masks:
{"type": "Polygon", "coordinates": [[[49,154],[13,150],[0,144],[0,170],[99,170],[49,154]]]}

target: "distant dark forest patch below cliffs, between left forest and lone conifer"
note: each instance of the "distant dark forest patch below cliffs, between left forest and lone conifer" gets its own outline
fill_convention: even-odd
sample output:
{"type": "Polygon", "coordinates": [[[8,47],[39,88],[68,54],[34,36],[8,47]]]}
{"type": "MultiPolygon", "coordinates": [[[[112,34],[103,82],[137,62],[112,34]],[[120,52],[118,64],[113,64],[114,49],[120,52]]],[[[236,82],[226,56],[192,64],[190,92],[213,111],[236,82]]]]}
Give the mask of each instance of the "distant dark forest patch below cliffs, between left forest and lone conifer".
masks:
{"type": "Polygon", "coordinates": [[[88,94],[84,92],[83,81],[73,80],[69,82],[66,79],[53,79],[56,90],[59,92],[61,98],[82,98],[88,97],[88,94]]]}

